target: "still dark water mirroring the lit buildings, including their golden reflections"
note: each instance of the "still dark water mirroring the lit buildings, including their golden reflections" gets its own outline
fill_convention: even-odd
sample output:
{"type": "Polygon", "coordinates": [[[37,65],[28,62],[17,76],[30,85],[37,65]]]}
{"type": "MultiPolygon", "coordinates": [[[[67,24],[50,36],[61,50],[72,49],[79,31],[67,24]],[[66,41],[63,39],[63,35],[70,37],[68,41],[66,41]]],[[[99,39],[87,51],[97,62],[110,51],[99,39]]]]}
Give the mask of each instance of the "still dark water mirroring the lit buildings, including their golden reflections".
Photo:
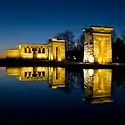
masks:
{"type": "Polygon", "coordinates": [[[121,121],[124,115],[123,69],[0,68],[0,125],[121,121]]]}

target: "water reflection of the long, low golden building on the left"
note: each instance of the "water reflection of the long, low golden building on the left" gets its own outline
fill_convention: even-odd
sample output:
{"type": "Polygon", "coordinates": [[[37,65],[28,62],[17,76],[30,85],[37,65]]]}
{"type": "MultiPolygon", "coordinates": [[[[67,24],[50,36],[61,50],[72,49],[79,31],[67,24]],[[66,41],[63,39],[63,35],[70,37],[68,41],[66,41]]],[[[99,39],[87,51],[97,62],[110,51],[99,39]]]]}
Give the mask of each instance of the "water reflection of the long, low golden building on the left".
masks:
{"type": "Polygon", "coordinates": [[[17,76],[20,81],[45,80],[52,88],[65,87],[65,68],[61,67],[7,67],[6,74],[17,76]]]}

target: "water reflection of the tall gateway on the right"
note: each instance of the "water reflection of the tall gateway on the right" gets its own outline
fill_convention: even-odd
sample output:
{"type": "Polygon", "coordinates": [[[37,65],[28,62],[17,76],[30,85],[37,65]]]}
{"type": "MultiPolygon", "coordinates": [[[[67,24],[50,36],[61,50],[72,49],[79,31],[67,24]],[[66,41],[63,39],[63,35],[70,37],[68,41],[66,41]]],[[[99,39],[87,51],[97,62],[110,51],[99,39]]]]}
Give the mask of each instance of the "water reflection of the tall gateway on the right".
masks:
{"type": "Polygon", "coordinates": [[[85,98],[92,99],[92,103],[112,102],[111,83],[111,69],[84,69],[85,98]]]}

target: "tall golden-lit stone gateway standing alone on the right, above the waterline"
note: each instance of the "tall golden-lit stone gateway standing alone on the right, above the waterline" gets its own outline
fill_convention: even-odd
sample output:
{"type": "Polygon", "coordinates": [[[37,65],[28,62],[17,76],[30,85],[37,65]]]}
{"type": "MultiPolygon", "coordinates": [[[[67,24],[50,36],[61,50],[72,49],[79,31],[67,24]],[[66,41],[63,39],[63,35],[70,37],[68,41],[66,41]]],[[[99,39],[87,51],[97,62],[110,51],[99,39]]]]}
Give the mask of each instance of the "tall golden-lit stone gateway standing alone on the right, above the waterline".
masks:
{"type": "Polygon", "coordinates": [[[84,29],[84,62],[105,64],[112,62],[113,28],[92,26],[84,29]]]}

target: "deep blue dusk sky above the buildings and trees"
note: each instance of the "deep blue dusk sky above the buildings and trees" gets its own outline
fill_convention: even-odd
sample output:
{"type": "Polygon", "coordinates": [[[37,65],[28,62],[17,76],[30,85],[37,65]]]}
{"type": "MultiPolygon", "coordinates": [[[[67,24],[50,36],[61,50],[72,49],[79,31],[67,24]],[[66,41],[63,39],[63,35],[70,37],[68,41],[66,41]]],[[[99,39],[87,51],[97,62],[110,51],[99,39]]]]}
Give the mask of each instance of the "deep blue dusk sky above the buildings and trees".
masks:
{"type": "Polygon", "coordinates": [[[79,36],[91,25],[125,30],[125,1],[1,0],[0,52],[19,43],[46,43],[66,29],[79,36]]]}

